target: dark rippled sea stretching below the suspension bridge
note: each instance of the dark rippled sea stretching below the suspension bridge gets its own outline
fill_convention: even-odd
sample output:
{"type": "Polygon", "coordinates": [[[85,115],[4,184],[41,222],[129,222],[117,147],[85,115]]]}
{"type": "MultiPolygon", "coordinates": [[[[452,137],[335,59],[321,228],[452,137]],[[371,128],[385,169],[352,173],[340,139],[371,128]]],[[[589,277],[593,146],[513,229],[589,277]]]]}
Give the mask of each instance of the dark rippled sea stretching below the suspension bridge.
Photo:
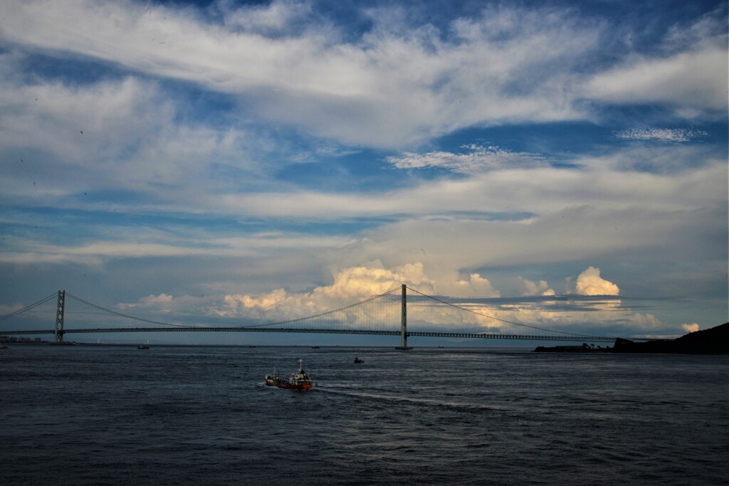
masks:
{"type": "Polygon", "coordinates": [[[15,345],[0,369],[2,485],[729,479],[727,356],[15,345]],[[297,358],[312,391],[263,384],[297,358]]]}

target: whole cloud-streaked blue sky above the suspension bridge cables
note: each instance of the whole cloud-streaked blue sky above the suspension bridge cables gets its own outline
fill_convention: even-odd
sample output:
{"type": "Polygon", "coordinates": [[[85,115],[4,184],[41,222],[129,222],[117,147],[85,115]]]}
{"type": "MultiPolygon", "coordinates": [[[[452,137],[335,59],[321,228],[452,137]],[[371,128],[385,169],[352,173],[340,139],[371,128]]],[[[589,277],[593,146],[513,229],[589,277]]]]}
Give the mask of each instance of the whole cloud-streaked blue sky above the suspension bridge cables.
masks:
{"type": "Polygon", "coordinates": [[[66,289],[225,324],[408,283],[550,329],[722,324],[727,25],[725,1],[4,1],[0,313],[66,289]]]}

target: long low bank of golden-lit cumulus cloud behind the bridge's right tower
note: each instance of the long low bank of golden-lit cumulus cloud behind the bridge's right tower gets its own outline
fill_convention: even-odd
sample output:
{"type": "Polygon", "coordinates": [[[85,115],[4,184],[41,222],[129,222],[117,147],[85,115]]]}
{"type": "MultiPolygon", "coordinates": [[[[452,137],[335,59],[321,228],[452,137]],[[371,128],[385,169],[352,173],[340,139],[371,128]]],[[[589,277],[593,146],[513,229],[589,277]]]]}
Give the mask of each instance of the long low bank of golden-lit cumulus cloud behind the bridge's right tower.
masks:
{"type": "MultiPolygon", "coordinates": [[[[589,270],[586,272],[589,273],[589,270]]],[[[381,262],[368,262],[355,267],[347,267],[333,275],[330,285],[319,286],[312,291],[292,292],[274,289],[258,294],[226,294],[225,297],[172,297],[170,294],[149,295],[139,302],[120,304],[122,312],[165,315],[161,320],[168,324],[182,324],[187,318],[195,324],[207,322],[217,325],[245,325],[273,322],[286,322],[300,318],[310,318],[325,313],[320,318],[307,320],[306,326],[349,326],[372,329],[395,329],[399,323],[399,286],[406,283],[411,289],[426,295],[437,296],[438,288],[424,272],[421,262],[406,264],[402,267],[387,269],[381,262]],[[364,305],[356,310],[330,311],[394,290],[384,305],[364,305]],[[384,310],[383,310],[384,309],[384,310]],[[168,316],[168,317],[166,317],[168,316]],[[176,321],[168,321],[175,318],[176,321]],[[223,319],[223,321],[221,321],[223,319]]],[[[529,281],[526,281],[529,283],[529,281]]],[[[545,281],[531,283],[533,289],[547,287],[545,281]]],[[[623,335],[625,329],[642,332],[655,332],[666,325],[651,314],[635,313],[624,307],[617,299],[499,299],[500,293],[488,279],[477,273],[443,285],[446,289],[459,292],[444,297],[451,305],[441,305],[417,292],[409,292],[408,321],[410,329],[470,329],[472,332],[501,332],[524,334],[529,328],[519,326],[539,326],[564,332],[583,332],[580,326],[590,322],[594,332],[623,335]],[[493,300],[492,300],[493,299],[493,300]],[[458,307],[464,307],[462,310],[458,307]],[[510,321],[510,322],[507,322],[510,321]]],[[[440,288],[440,286],[439,286],[440,288]]],[[[548,292],[546,289],[542,293],[548,292]]],[[[548,294],[547,294],[548,295],[548,294]]],[[[540,296],[541,297],[541,296],[540,296]]],[[[377,302],[383,302],[378,300],[377,302]]]]}

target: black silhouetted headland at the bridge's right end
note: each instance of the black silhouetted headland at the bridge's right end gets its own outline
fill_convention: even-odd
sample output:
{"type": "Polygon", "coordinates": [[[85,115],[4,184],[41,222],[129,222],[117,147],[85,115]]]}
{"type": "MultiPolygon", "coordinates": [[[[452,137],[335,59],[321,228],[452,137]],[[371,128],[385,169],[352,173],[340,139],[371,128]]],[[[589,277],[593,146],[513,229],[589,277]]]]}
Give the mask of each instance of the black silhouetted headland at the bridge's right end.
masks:
{"type": "Polygon", "coordinates": [[[674,340],[635,342],[618,337],[612,348],[581,346],[538,346],[537,353],[674,353],[729,354],[729,323],[678,337],[674,340]]]}

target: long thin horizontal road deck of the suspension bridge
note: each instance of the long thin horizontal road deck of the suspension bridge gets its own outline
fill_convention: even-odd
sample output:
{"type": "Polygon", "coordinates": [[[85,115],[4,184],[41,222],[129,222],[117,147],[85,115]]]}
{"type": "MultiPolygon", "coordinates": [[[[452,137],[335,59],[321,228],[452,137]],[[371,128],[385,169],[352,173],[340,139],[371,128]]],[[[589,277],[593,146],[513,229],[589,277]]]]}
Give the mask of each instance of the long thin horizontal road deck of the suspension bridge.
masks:
{"type": "MultiPolygon", "coordinates": [[[[0,335],[14,334],[54,334],[54,329],[33,331],[0,331],[0,335]]],[[[299,332],[303,334],[370,334],[378,336],[399,336],[399,331],[376,331],[369,329],[297,329],[291,327],[114,327],[96,329],[63,329],[63,334],[95,333],[95,332],[299,332]]],[[[59,332],[61,334],[61,332],[59,332]]],[[[486,334],[483,332],[431,332],[408,331],[408,337],[462,337],[499,340],[530,341],[577,341],[577,342],[615,342],[615,337],[607,336],[538,336],[528,334],[486,334]]]]}

